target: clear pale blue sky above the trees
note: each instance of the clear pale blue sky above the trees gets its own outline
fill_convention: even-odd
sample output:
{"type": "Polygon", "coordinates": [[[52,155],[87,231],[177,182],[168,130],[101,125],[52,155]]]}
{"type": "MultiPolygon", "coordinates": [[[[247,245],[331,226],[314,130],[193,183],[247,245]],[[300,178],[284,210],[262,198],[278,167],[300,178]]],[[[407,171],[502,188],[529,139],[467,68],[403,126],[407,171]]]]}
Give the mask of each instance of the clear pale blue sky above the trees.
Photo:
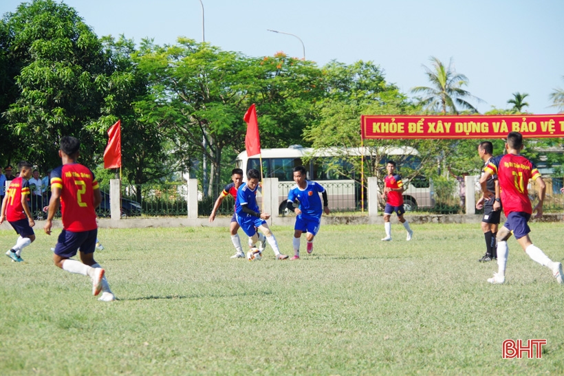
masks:
{"type": "MultiPolygon", "coordinates": [[[[283,51],[323,66],[330,60],[373,61],[404,93],[428,82],[429,57],[453,58],[466,89],[506,109],[512,93],[529,93],[525,107],[554,113],[549,94],[564,88],[564,1],[561,0],[202,0],[206,42],[248,56],[283,51]]],[[[0,12],[21,1],[3,0],[0,12]]],[[[135,42],[202,41],[199,0],[66,0],[98,36],[135,42]]]]}

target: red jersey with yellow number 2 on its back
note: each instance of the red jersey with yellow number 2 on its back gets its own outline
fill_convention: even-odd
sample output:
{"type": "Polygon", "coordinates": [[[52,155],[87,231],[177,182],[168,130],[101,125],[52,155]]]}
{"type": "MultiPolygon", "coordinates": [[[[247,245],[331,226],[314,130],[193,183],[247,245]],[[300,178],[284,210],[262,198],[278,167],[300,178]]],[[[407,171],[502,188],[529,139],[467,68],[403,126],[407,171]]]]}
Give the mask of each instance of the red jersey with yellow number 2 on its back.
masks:
{"type": "Polygon", "coordinates": [[[61,188],[63,228],[72,232],[95,230],[94,190],[98,181],[82,164],[63,164],[52,170],[51,187],[61,188]]]}

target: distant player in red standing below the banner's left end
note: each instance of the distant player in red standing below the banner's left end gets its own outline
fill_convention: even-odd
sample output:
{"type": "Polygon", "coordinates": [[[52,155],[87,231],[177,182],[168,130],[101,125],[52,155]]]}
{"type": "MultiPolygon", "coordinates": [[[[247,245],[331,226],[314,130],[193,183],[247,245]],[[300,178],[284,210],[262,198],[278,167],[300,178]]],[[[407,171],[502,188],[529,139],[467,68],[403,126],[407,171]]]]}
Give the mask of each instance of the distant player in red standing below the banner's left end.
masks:
{"type": "Polygon", "coordinates": [[[388,161],[386,164],[388,175],[384,177],[384,193],[382,199],[386,200],[386,208],[384,208],[384,230],[386,230],[386,237],[382,241],[391,241],[391,213],[398,214],[398,220],[403,223],[405,230],[407,230],[407,241],[411,241],[413,230],[409,228],[407,219],[404,218],[404,186],[402,184],[402,177],[395,174],[395,162],[388,161]]]}

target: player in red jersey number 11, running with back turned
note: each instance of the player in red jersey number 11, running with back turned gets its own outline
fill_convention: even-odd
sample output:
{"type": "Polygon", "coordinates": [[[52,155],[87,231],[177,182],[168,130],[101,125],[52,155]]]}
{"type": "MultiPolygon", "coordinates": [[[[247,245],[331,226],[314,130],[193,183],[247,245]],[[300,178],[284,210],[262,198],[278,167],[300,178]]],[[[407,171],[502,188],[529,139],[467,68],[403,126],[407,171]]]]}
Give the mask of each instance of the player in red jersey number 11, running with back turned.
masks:
{"type": "Polygon", "coordinates": [[[545,199],[546,185],[530,159],[519,155],[523,149],[523,135],[519,132],[510,132],[507,136],[506,155],[492,158],[486,168],[484,175],[480,178],[483,197],[494,199],[495,192],[487,188],[490,176],[496,175],[499,179],[501,189],[501,204],[507,221],[497,232],[497,273],[493,278],[488,278],[489,283],[503,283],[506,280],[506,264],[509,254],[507,240],[514,234],[517,243],[521,245],[526,254],[536,263],[548,267],[552,275],[560,284],[563,283],[562,264],[552,261],[544,252],[533,245],[529,232],[531,231],[527,222],[531,214],[536,211],[535,218],[543,216],[543,201],[545,199]],[[529,180],[536,181],[539,192],[539,203],[532,208],[529,199],[527,185],[529,180]]]}

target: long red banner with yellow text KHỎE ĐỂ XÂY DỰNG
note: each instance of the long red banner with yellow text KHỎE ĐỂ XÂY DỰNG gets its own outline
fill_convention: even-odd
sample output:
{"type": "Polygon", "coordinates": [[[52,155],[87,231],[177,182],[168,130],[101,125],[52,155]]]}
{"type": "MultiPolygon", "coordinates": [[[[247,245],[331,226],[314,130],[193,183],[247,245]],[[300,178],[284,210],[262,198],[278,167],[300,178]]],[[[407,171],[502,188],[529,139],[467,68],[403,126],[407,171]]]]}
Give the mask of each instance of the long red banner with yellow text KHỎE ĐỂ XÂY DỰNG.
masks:
{"type": "Polygon", "coordinates": [[[564,137],[564,115],[362,115],[363,139],[564,137]]]}

